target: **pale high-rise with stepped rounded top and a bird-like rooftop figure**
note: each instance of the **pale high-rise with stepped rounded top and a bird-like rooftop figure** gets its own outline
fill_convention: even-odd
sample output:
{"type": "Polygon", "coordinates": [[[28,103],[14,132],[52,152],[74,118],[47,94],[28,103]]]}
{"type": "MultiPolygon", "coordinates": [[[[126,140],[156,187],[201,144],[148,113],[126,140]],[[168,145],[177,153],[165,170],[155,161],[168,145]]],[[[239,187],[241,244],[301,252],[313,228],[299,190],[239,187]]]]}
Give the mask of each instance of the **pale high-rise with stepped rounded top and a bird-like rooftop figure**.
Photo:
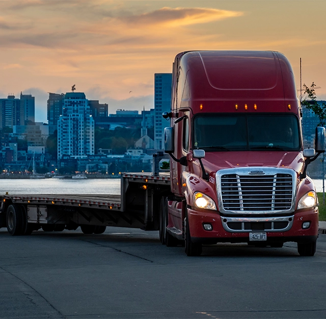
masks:
{"type": "Polygon", "coordinates": [[[58,159],[94,154],[94,119],[84,93],[66,93],[58,120],[58,159]]]}

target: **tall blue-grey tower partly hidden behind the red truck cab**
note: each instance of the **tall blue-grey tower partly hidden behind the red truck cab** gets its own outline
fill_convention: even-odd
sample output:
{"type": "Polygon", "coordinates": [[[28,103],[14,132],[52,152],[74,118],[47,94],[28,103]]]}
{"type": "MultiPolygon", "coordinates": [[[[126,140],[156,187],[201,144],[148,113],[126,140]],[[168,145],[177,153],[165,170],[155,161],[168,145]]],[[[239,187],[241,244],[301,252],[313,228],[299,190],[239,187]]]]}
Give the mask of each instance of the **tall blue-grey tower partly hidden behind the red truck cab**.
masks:
{"type": "Polygon", "coordinates": [[[163,148],[164,128],[169,122],[162,118],[163,112],[171,111],[172,73],[154,74],[155,149],[163,148]]]}

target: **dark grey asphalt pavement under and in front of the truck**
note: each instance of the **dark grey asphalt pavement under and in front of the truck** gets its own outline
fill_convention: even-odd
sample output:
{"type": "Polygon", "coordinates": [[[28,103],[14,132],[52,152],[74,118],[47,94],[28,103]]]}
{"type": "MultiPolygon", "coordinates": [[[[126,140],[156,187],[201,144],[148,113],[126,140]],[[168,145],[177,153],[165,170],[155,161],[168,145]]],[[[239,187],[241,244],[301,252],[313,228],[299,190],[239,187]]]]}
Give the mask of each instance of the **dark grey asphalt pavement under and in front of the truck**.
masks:
{"type": "Polygon", "coordinates": [[[294,243],[187,257],[157,232],[0,229],[1,318],[325,318],[325,287],[326,235],[314,257],[294,243]]]}

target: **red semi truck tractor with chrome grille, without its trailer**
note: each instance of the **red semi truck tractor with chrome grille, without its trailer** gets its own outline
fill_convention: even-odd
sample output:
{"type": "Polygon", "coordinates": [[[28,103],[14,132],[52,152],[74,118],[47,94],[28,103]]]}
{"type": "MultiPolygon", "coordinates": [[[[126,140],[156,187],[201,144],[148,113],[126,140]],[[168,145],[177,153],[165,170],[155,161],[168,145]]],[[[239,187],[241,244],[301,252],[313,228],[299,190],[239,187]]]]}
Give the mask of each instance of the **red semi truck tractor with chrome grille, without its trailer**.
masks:
{"type": "Polygon", "coordinates": [[[306,170],[325,150],[303,149],[301,105],[288,60],[275,51],[188,51],[173,64],[165,151],[171,194],[161,199],[160,240],[282,247],[313,256],[318,202],[306,170]]]}

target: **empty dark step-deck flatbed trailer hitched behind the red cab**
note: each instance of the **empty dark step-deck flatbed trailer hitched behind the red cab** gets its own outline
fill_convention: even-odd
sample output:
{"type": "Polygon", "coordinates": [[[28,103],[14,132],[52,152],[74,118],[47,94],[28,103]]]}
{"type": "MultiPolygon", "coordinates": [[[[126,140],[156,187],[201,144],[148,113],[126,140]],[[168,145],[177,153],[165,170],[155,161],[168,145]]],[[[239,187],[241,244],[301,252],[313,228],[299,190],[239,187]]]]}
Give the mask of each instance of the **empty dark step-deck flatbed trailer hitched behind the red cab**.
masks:
{"type": "Polygon", "coordinates": [[[160,199],[170,192],[170,174],[155,168],[154,173],[123,173],[121,196],[0,195],[0,227],[12,235],[79,226],[84,233],[102,233],[106,226],[158,230],[160,199]]]}

